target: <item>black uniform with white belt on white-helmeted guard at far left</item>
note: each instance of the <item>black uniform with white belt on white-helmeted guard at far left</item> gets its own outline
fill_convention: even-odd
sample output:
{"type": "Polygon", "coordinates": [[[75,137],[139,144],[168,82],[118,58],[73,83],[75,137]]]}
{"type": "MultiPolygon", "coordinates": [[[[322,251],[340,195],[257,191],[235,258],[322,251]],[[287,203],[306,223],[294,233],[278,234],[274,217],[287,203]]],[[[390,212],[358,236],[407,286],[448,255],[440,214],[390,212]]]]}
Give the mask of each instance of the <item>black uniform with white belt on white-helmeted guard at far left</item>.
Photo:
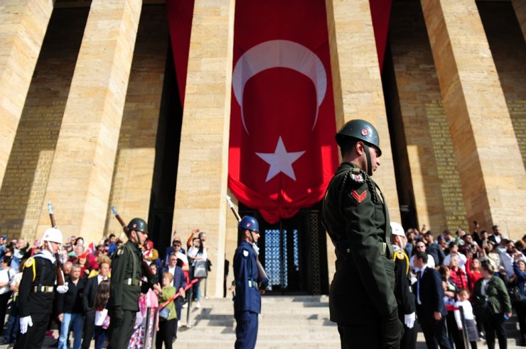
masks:
{"type": "Polygon", "coordinates": [[[18,314],[20,318],[31,316],[33,326],[28,326],[26,333],[18,332],[15,348],[42,348],[53,309],[56,279],[57,263],[48,250],[34,255],[23,265],[18,314]]]}

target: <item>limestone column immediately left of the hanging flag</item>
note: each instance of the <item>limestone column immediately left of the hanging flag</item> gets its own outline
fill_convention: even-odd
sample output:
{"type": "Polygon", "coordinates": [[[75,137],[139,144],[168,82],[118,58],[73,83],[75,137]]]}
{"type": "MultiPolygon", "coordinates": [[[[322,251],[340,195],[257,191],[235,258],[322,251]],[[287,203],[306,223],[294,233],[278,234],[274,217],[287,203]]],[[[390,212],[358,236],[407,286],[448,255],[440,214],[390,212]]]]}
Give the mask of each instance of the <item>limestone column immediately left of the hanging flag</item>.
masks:
{"type": "Polygon", "coordinates": [[[234,0],[195,0],[173,212],[182,237],[193,228],[207,233],[214,270],[208,294],[217,297],[225,262],[234,11],[234,0]]]}

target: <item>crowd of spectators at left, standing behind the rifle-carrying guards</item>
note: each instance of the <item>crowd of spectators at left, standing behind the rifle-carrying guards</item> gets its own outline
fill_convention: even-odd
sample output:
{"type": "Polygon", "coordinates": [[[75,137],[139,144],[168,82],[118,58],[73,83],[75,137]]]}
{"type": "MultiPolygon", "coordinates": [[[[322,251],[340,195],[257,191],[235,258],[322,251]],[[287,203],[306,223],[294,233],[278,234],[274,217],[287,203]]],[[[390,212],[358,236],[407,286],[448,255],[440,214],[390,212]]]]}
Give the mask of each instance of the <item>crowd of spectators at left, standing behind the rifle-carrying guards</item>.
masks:
{"type": "MultiPolygon", "coordinates": [[[[62,240],[61,233],[60,240],[62,240]]],[[[53,294],[53,311],[45,320],[47,321],[46,337],[55,338],[51,328],[58,328],[59,335],[55,338],[55,347],[90,348],[92,339],[95,339],[95,348],[102,348],[107,340],[109,324],[112,322],[108,311],[112,271],[114,275],[118,272],[112,270],[112,259],[122,253],[119,251],[124,245],[123,240],[124,238],[121,240],[110,234],[98,243],[86,243],[81,237],[70,236],[61,244],[58,254],[62,262],[66,287],[63,288],[62,293],[55,290],[49,292],[53,294]],[[73,340],[70,340],[70,337],[73,340]]],[[[154,343],[156,348],[162,348],[163,344],[165,348],[172,348],[172,343],[176,340],[177,328],[181,326],[179,319],[183,306],[186,307],[188,303],[191,304],[191,301],[195,300],[195,307],[200,308],[202,277],[193,283],[190,280],[194,279],[193,270],[197,261],[208,262],[205,241],[206,233],[194,230],[185,241],[186,246],[183,246],[181,238],[174,233],[172,245],[163,251],[163,255],[159,255],[153,241],[148,239],[141,241],[140,250],[144,260],[151,274],[156,275],[160,285],[159,288],[148,289],[139,297],[139,302],[136,304],[139,311],[135,317],[128,348],[142,348],[146,340],[144,333],[148,330],[151,334],[157,332],[156,343],[154,343]],[[187,285],[188,287],[191,285],[191,293],[188,292],[187,285]],[[190,301],[188,301],[189,294],[193,295],[190,301]],[[157,316],[154,311],[147,314],[149,308],[155,310],[159,305],[165,311],[160,311],[157,316]],[[163,314],[168,315],[163,316],[163,314]],[[148,316],[151,321],[146,321],[148,316]],[[156,316],[155,321],[154,316],[156,316]],[[156,323],[157,328],[146,328],[148,322],[150,326],[156,323]]],[[[28,328],[31,330],[31,326],[34,326],[36,316],[33,311],[28,310],[31,311],[31,316],[23,314],[21,318],[21,313],[24,311],[18,301],[19,289],[24,269],[33,268],[33,275],[43,275],[43,272],[38,270],[35,272],[35,265],[38,264],[36,260],[41,260],[35,256],[47,252],[44,242],[48,243],[47,240],[38,239],[30,245],[23,238],[8,241],[7,236],[0,237],[0,329],[4,329],[4,339],[0,342],[3,345],[15,346],[16,341],[20,341],[21,333],[26,333],[28,328]],[[7,321],[4,323],[6,318],[7,321]],[[28,321],[24,321],[25,318],[28,318],[28,321]]],[[[209,262],[208,267],[210,267],[209,262]]],[[[31,281],[34,283],[34,276],[31,281]]],[[[31,288],[32,284],[26,287],[26,289],[31,288]]],[[[48,290],[42,287],[38,292],[47,294],[48,290]]],[[[16,348],[18,347],[20,345],[16,345],[16,348]]]]}

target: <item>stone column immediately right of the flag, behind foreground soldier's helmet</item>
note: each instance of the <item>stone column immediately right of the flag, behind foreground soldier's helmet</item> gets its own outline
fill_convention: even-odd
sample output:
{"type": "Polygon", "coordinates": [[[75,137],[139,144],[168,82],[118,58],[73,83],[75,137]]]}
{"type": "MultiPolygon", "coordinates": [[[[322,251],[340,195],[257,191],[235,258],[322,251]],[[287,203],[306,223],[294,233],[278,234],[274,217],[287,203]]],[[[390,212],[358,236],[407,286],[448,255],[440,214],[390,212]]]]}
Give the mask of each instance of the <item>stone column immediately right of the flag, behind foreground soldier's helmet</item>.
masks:
{"type": "Polygon", "coordinates": [[[326,7],[336,128],[361,118],[372,123],[380,133],[381,166],[374,179],[385,195],[391,220],[399,222],[397,186],[369,1],[326,0],[326,7]]]}

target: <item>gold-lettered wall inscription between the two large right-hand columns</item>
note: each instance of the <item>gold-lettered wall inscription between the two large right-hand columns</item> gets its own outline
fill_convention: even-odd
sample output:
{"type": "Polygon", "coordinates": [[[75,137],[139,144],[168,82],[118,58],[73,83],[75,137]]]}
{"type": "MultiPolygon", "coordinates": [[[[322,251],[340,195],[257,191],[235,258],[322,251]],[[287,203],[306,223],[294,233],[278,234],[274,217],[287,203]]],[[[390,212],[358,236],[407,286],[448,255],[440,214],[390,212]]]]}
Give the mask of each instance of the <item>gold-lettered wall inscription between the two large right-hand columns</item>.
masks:
{"type": "Polygon", "coordinates": [[[449,133],[444,106],[441,101],[426,103],[425,106],[436,160],[436,171],[441,180],[440,188],[447,227],[466,229],[468,228],[466,208],[462,198],[461,183],[456,169],[451,133],[449,133]]]}

